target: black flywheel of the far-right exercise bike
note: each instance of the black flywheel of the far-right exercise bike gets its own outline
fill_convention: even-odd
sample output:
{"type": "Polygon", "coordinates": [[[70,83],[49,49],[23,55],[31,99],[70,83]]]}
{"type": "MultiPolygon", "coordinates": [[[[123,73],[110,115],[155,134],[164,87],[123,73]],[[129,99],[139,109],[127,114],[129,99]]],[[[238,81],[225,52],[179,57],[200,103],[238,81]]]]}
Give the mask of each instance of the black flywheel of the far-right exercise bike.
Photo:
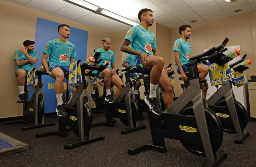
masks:
{"type": "MultiPolygon", "coordinates": [[[[247,123],[248,123],[248,114],[244,106],[239,103],[238,101],[234,101],[235,107],[236,107],[236,114],[238,117],[238,121],[241,127],[241,130],[244,130],[246,128],[247,123]]],[[[226,101],[223,99],[216,103],[217,106],[227,106],[226,101]]],[[[223,126],[223,131],[229,134],[236,134],[236,130],[234,128],[234,124],[232,122],[231,117],[225,118],[229,119],[228,121],[224,121],[224,119],[220,119],[222,126],[223,126]]]]}

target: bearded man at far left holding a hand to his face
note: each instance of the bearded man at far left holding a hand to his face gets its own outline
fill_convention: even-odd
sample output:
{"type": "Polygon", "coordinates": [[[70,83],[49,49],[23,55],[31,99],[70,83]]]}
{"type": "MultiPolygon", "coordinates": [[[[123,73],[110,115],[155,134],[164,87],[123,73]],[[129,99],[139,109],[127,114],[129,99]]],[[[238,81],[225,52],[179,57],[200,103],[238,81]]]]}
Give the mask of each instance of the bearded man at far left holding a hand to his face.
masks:
{"type": "Polygon", "coordinates": [[[18,49],[14,53],[16,63],[16,77],[19,88],[18,103],[26,101],[26,94],[24,92],[25,78],[29,70],[32,70],[37,62],[38,54],[34,51],[35,42],[26,40],[23,42],[24,48],[18,49]]]}

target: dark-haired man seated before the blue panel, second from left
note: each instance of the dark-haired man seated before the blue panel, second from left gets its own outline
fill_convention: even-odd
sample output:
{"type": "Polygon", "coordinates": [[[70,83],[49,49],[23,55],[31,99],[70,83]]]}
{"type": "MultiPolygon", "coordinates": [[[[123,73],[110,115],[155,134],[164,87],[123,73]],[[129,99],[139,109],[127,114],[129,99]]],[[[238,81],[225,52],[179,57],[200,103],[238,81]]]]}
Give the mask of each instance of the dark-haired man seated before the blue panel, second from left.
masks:
{"type": "Polygon", "coordinates": [[[69,66],[74,63],[76,52],[75,45],[67,40],[70,35],[69,25],[61,24],[58,26],[59,38],[53,39],[45,45],[41,62],[47,74],[55,78],[54,89],[57,99],[57,115],[67,116],[65,106],[62,101],[63,80],[68,81],[69,66]],[[49,57],[49,66],[47,58],[49,57]]]}

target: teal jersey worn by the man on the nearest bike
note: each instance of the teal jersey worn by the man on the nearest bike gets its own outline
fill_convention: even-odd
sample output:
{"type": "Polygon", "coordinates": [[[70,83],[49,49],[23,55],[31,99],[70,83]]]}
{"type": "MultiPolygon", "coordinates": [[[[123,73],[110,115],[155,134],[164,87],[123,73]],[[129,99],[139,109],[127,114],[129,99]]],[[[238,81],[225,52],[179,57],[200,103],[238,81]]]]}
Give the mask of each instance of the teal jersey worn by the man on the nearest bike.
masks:
{"type": "MultiPolygon", "coordinates": [[[[142,25],[136,25],[130,28],[124,39],[128,39],[131,42],[132,49],[140,52],[153,55],[152,49],[156,49],[155,35],[142,25]]],[[[134,64],[136,64],[140,56],[132,56],[135,56],[134,64]]]]}

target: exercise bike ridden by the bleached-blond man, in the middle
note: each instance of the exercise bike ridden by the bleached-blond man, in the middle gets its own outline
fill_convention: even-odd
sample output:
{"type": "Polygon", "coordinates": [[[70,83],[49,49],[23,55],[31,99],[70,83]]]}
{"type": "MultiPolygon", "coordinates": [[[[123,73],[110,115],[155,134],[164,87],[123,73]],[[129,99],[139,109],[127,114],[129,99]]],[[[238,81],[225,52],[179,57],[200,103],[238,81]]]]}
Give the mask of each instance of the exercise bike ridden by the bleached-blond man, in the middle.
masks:
{"type": "Polygon", "coordinates": [[[106,121],[98,122],[93,124],[93,127],[96,126],[114,126],[114,118],[120,118],[122,124],[128,126],[124,130],[121,130],[121,134],[128,134],[136,130],[141,130],[146,128],[146,125],[137,125],[137,120],[139,116],[138,104],[135,101],[134,93],[132,91],[132,83],[130,80],[130,73],[136,72],[135,66],[129,66],[122,70],[126,71],[125,78],[126,83],[120,95],[116,98],[115,103],[105,103],[106,111],[106,121]]]}

